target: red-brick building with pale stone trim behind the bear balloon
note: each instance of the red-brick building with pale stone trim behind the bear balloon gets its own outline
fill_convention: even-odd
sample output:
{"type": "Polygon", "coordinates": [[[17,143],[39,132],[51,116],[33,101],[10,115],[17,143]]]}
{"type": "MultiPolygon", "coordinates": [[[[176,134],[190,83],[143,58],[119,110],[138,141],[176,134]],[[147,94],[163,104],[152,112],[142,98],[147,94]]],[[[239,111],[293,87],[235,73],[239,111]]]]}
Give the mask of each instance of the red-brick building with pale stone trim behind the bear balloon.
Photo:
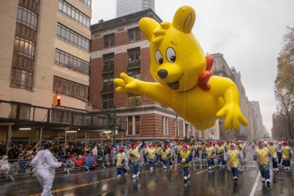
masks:
{"type": "MultiPolygon", "coordinates": [[[[113,79],[122,72],[154,82],[149,73],[149,42],[138,25],[143,17],[162,22],[147,9],[91,25],[90,102],[109,113],[114,113],[115,104],[116,115],[127,121],[126,130],[116,131],[118,140],[204,139],[204,132],[195,130],[172,109],[145,96],[115,92],[113,79]]],[[[98,110],[93,113],[101,114],[98,110]]]]}

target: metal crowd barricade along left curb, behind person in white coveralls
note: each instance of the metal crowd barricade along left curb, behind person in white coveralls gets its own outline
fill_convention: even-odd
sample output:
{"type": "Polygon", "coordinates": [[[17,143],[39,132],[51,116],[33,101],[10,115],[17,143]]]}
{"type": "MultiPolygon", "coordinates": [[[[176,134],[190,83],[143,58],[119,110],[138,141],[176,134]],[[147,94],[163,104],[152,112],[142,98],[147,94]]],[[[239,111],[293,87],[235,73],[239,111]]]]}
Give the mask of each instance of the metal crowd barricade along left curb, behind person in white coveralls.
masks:
{"type": "MultiPolygon", "coordinates": [[[[56,168],[55,171],[65,171],[70,174],[73,170],[85,169],[90,171],[97,166],[111,165],[114,163],[115,155],[105,155],[105,156],[91,156],[91,161],[87,160],[87,156],[81,157],[69,157],[69,158],[59,158],[58,162],[63,162],[64,166],[56,168]]],[[[1,178],[10,178],[15,181],[15,177],[32,175],[34,173],[33,166],[30,166],[30,159],[15,159],[8,160],[8,163],[0,164],[0,176],[1,178]]]]}

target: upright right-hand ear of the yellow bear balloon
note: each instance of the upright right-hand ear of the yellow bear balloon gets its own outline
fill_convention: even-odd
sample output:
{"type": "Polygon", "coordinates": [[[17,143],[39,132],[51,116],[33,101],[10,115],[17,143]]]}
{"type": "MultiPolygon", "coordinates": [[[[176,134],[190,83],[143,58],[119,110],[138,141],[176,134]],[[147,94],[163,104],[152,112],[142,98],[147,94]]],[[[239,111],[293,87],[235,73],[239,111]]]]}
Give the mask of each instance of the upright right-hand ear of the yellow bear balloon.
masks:
{"type": "Polygon", "coordinates": [[[172,26],[184,33],[191,33],[195,19],[194,9],[191,6],[184,5],[175,12],[172,26]]]}

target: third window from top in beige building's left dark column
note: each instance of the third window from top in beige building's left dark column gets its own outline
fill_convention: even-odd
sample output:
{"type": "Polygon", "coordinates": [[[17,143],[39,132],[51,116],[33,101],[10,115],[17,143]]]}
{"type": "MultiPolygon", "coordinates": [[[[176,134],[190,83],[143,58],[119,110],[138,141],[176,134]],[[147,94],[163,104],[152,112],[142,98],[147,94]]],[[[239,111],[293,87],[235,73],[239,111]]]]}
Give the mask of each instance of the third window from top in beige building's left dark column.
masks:
{"type": "Polygon", "coordinates": [[[10,86],[31,91],[33,89],[33,73],[17,68],[12,68],[10,86]]]}

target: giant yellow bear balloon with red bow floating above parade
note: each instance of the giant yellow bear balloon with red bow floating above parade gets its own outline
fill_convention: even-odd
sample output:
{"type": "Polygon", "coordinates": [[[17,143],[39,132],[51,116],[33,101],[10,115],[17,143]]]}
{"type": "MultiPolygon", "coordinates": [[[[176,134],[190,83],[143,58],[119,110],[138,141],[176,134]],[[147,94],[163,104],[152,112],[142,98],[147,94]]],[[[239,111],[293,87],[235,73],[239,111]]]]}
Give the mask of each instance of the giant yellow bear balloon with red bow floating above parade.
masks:
{"type": "Polygon", "coordinates": [[[224,127],[247,125],[239,107],[236,84],[210,71],[213,58],[204,55],[191,33],[196,19],[190,6],[181,6],[172,23],[142,18],[141,31],[150,41],[150,73],[157,82],[145,82],[121,73],[114,79],[117,92],[146,95],[171,107],[196,129],[212,127],[225,117],[224,127]]]}

